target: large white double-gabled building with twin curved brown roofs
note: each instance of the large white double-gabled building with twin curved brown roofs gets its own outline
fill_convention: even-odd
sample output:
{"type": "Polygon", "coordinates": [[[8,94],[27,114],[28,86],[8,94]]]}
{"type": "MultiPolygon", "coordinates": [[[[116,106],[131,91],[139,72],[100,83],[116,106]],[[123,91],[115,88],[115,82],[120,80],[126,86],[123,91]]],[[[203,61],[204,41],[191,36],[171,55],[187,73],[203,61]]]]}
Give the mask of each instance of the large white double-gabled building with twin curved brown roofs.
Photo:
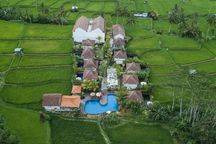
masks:
{"type": "Polygon", "coordinates": [[[88,19],[81,16],[73,27],[74,42],[82,43],[85,40],[91,40],[95,43],[105,42],[105,20],[99,16],[94,19],[88,19]]]}

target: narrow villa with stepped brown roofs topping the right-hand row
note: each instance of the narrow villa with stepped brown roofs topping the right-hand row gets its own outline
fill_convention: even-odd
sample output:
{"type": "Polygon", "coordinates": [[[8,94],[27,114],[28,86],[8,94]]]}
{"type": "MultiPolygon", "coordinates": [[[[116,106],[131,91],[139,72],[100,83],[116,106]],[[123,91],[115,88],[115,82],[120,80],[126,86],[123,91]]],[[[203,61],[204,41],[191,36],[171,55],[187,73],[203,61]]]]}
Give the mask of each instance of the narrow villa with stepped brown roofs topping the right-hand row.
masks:
{"type": "Polygon", "coordinates": [[[113,50],[124,49],[125,46],[125,30],[123,26],[116,24],[112,26],[112,38],[110,45],[113,50]]]}

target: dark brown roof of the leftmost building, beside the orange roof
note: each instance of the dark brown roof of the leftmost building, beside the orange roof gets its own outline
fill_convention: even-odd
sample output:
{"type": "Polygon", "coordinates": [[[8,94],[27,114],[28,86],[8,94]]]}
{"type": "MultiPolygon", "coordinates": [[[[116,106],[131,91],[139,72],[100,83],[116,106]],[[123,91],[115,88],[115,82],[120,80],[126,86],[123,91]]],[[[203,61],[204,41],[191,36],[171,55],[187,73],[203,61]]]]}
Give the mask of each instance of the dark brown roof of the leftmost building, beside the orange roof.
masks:
{"type": "Polygon", "coordinates": [[[44,94],[42,106],[60,106],[61,96],[59,93],[44,94]]]}

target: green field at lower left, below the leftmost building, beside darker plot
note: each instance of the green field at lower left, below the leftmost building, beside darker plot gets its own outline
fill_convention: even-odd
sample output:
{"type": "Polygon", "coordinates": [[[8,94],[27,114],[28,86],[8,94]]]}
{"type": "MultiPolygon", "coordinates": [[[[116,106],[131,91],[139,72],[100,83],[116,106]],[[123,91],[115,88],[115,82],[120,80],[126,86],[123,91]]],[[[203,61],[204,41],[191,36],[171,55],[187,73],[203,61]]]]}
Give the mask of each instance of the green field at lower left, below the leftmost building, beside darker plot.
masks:
{"type": "Polygon", "coordinates": [[[49,123],[41,123],[39,113],[0,105],[6,126],[18,136],[20,144],[50,144],[49,123]]]}

